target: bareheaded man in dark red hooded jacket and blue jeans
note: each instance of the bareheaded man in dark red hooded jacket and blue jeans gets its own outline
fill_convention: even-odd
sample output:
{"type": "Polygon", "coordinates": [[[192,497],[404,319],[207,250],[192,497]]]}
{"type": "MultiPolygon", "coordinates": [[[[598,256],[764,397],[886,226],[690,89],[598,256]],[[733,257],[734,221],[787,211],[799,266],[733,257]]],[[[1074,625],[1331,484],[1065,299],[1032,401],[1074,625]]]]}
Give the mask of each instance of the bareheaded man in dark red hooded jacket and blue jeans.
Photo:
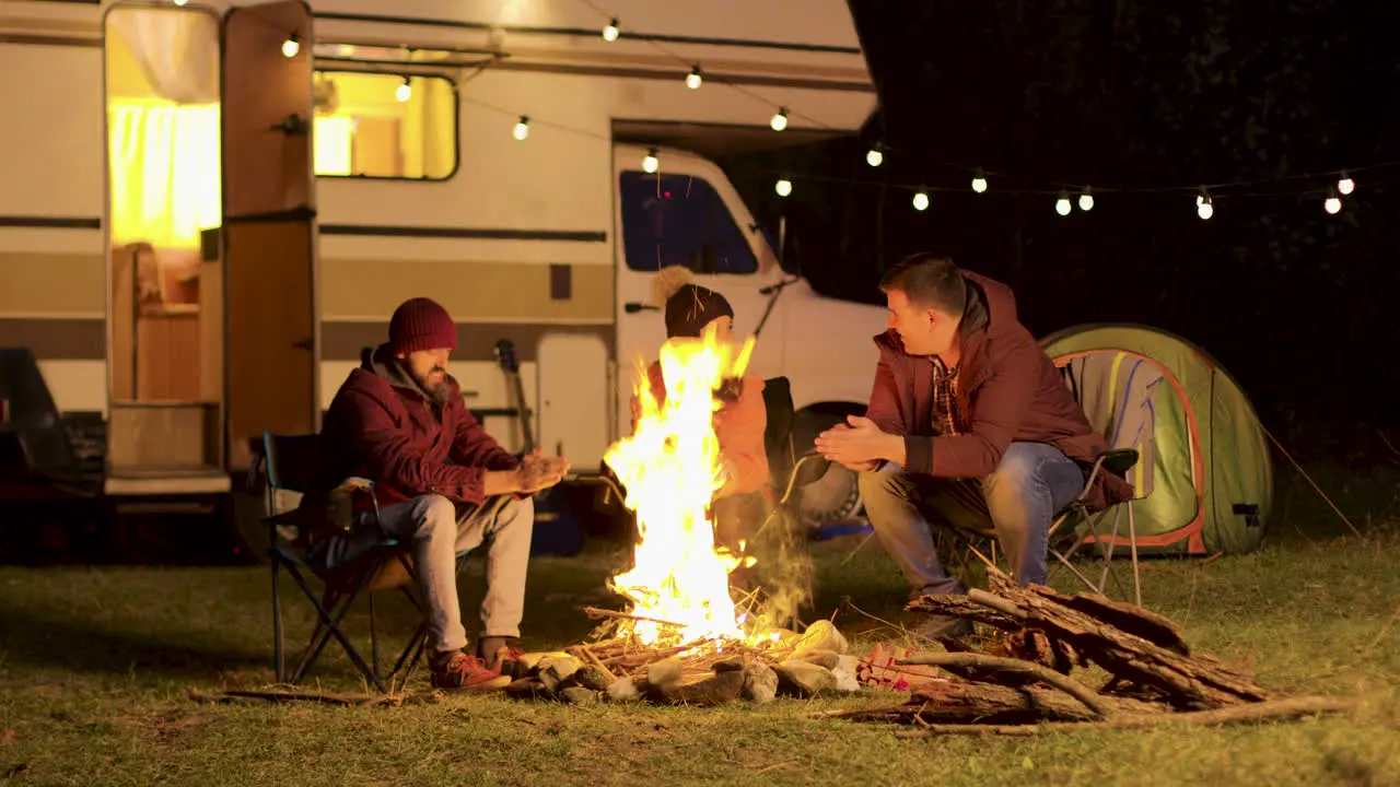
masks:
{"type": "MultiPolygon", "coordinates": [[[[1046,581],[1054,515],[1084,489],[1107,443],[1054,363],[1016,321],[1011,288],[934,255],[885,274],[889,305],[865,417],[827,430],[818,450],[861,473],[865,513],[911,595],[963,594],[944,571],[930,522],[995,531],[1015,578],[1046,581]]],[[[1089,510],[1131,497],[1100,473],[1089,510]]],[[[965,633],[935,618],[930,633],[965,633]]]]}

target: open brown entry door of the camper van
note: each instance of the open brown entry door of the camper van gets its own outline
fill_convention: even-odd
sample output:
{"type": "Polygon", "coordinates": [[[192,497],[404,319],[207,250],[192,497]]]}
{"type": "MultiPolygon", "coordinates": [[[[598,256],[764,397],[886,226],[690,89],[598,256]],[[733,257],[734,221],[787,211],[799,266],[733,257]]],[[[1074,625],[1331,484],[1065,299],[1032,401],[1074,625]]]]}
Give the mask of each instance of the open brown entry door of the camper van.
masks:
{"type": "Polygon", "coordinates": [[[319,427],[311,8],[224,15],[223,258],[231,468],[248,438],[319,427]]]}

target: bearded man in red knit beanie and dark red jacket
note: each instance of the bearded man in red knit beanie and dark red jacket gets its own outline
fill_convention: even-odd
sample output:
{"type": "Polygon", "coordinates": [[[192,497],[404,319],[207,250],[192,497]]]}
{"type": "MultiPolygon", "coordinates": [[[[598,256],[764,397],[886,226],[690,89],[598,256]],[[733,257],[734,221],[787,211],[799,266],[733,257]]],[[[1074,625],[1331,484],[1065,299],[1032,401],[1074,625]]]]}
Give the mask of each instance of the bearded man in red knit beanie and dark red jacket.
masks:
{"type": "Polygon", "coordinates": [[[360,494],[350,531],[330,527],[312,546],[312,564],[330,570],[384,536],[412,548],[428,606],[428,669],[434,686],[496,688],[501,657],[519,637],[533,506],[529,494],[563,479],[568,462],[517,458],[472,417],[447,372],[456,323],[428,298],[405,301],[389,321],[389,342],[365,351],[330,402],[321,430],[321,494],[302,508],[329,520],[328,493],[351,476],[374,482],[379,506],[360,494]],[[475,653],[456,595],[456,556],[486,543],[486,598],[475,653]]]}

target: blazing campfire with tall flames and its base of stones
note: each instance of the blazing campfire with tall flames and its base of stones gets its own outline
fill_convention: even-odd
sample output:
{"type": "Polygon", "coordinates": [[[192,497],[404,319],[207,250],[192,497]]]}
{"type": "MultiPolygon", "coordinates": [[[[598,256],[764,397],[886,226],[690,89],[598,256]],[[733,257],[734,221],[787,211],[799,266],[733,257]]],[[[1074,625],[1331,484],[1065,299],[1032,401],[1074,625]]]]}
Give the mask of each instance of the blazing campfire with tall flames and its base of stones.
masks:
{"type": "Polygon", "coordinates": [[[714,392],[743,375],[752,351],[753,337],[734,346],[713,329],[700,339],[672,339],[661,350],[664,402],[638,365],[637,429],[605,457],[637,518],[633,564],[609,581],[630,609],[587,608],[603,620],[592,640],[528,655],[508,693],[592,702],[602,692],[612,700],[715,704],[858,688],[857,658],[846,654],[840,632],[829,620],[802,634],[781,627],[799,594],[774,587],[732,592],[729,574],[759,557],[743,542],[738,553],[715,545],[710,503],[724,472],[714,392]]]}

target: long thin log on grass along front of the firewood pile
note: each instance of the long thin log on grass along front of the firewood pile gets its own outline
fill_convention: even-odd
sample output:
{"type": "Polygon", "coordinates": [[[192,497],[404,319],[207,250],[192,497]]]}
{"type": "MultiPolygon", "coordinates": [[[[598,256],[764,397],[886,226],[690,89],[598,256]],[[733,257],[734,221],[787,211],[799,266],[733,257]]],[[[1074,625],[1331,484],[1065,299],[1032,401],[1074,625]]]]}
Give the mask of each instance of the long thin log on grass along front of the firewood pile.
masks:
{"type": "Polygon", "coordinates": [[[924,730],[897,732],[899,738],[924,738],[928,735],[1042,735],[1047,732],[1079,732],[1084,730],[1147,730],[1166,724],[1190,724],[1197,727],[1224,727],[1228,724],[1249,724],[1257,721],[1287,721],[1322,713],[1345,713],[1355,706],[1351,697],[1292,697],[1236,704],[1215,710],[1189,713],[1156,713],[1120,716],[1107,721],[1049,723],[1049,724],[932,724],[924,730]]]}

